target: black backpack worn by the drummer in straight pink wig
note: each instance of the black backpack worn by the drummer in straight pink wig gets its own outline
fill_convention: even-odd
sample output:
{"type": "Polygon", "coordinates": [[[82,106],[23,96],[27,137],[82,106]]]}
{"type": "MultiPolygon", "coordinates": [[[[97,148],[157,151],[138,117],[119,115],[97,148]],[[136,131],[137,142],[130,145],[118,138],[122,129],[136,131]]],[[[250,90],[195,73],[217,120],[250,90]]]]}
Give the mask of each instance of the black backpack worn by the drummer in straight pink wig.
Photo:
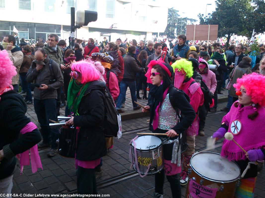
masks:
{"type": "Polygon", "coordinates": [[[113,136],[117,137],[119,130],[117,115],[119,115],[119,113],[116,110],[111,93],[109,92],[109,89],[107,87],[105,87],[105,89],[104,88],[95,88],[95,89],[102,91],[102,93],[105,96],[104,98],[105,116],[103,123],[104,135],[106,138],[110,138],[113,136]]]}

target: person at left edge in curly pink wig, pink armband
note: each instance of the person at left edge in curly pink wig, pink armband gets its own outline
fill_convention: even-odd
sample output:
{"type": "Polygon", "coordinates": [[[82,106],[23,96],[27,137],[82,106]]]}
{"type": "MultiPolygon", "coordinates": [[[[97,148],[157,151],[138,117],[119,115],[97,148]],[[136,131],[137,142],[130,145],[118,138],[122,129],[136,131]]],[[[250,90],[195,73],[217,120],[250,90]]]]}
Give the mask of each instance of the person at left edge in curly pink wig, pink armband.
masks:
{"type": "Polygon", "coordinates": [[[37,143],[41,134],[37,126],[25,115],[27,104],[24,98],[13,91],[11,79],[16,75],[16,68],[6,50],[0,51],[0,192],[1,197],[11,194],[16,155],[20,158],[20,170],[32,165],[32,172],[42,168],[37,143]]]}

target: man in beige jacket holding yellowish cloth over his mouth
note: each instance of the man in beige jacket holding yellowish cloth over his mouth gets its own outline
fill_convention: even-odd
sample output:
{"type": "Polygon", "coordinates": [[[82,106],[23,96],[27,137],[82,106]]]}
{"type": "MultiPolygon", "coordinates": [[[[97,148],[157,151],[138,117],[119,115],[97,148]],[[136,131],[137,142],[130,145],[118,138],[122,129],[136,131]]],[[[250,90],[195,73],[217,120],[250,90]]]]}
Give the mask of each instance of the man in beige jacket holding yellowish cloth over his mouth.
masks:
{"type": "Polygon", "coordinates": [[[18,92],[18,81],[19,81],[19,69],[23,61],[23,53],[19,46],[15,45],[16,39],[12,35],[6,35],[3,39],[2,45],[6,49],[10,60],[16,67],[17,74],[12,78],[12,86],[14,91],[18,92]]]}

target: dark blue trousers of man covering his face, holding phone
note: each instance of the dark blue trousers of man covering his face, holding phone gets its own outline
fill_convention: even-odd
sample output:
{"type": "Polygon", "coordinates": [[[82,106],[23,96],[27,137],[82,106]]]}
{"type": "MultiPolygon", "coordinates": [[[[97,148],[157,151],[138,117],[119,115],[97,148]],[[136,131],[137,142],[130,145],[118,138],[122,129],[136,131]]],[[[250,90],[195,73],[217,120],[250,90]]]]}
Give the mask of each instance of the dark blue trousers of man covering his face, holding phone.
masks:
{"type": "Polygon", "coordinates": [[[56,117],[56,99],[44,99],[38,100],[34,98],[34,109],[37,114],[38,122],[41,125],[41,133],[43,137],[43,143],[48,144],[50,142],[49,136],[51,136],[51,148],[57,149],[59,130],[51,129],[49,123],[50,120],[57,120],[56,117]]]}

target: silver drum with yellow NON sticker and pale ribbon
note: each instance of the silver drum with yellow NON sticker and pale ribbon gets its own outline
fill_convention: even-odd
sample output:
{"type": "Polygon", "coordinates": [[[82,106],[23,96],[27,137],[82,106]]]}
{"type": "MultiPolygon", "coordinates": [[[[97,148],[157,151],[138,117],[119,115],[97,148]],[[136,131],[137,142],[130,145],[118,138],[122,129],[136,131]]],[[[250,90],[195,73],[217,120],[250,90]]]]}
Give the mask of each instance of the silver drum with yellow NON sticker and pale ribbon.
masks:
{"type": "Polygon", "coordinates": [[[162,157],[162,141],[160,138],[153,135],[142,135],[134,140],[136,144],[137,162],[135,162],[134,143],[131,143],[133,167],[137,171],[139,167],[140,173],[144,174],[148,165],[151,164],[147,175],[152,175],[160,172],[163,167],[162,157]]]}

